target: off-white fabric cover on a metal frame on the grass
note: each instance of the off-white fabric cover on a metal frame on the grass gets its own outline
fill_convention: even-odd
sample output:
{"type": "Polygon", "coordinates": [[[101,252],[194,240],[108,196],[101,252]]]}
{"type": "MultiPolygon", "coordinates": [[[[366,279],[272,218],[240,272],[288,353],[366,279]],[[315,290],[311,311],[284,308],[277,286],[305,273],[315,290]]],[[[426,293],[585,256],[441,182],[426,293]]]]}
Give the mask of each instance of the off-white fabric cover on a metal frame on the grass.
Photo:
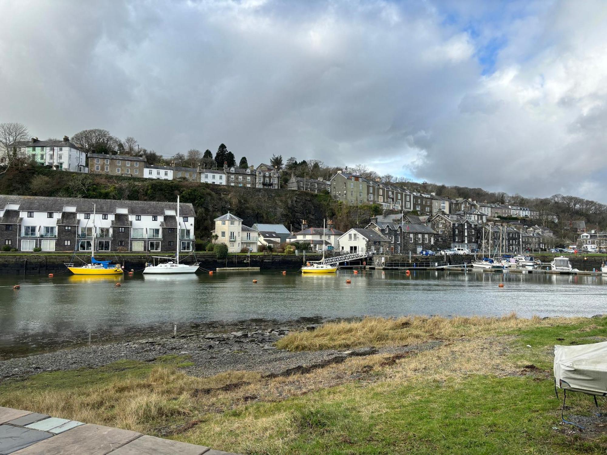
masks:
{"type": "Polygon", "coordinates": [[[554,379],[561,389],[607,394],[607,342],[554,346],[554,379]]]}

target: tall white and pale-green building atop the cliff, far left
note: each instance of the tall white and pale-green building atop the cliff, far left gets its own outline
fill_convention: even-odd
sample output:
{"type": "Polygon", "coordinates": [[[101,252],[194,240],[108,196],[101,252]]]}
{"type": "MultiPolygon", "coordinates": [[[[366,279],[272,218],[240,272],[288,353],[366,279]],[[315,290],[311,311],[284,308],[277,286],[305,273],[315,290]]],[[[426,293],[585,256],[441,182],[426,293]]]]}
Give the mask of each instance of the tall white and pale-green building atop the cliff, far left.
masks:
{"type": "Polygon", "coordinates": [[[21,141],[13,144],[19,155],[29,157],[32,161],[43,166],[51,166],[56,170],[71,170],[72,172],[89,172],[86,164],[86,153],[78,149],[68,136],[63,141],[21,141]]]}

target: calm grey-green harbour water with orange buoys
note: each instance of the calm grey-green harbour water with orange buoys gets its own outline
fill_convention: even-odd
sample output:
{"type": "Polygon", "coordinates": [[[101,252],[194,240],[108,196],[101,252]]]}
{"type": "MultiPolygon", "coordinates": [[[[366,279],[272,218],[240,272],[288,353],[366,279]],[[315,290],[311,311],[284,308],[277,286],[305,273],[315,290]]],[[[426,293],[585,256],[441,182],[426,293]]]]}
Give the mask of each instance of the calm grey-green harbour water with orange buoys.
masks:
{"type": "Polygon", "coordinates": [[[85,343],[89,335],[93,342],[109,341],[211,321],[511,311],[592,316],[607,313],[606,292],[607,276],[473,271],[0,277],[0,358],[85,343]],[[21,289],[13,289],[16,283],[21,289]]]}

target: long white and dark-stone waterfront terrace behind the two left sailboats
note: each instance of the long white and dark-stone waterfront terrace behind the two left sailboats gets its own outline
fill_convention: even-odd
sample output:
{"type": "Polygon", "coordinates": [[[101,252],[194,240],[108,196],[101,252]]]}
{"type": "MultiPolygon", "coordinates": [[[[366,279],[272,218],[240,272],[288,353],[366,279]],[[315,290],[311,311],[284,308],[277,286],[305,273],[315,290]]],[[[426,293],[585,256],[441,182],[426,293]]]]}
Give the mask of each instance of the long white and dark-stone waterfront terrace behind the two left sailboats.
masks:
{"type": "Polygon", "coordinates": [[[94,229],[95,251],[192,251],[194,207],[181,203],[179,220],[176,209],[168,202],[0,195],[0,244],[91,251],[94,229]]]}

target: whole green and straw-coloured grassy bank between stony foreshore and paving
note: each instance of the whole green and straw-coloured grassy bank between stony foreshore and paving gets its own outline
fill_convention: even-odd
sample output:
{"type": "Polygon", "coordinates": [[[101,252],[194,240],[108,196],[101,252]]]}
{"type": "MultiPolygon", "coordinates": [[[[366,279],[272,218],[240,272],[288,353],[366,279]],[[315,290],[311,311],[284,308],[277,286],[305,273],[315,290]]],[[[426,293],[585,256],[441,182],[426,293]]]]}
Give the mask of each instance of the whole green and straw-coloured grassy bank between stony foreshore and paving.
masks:
{"type": "MultiPolygon", "coordinates": [[[[554,344],[607,340],[607,317],[350,324],[288,335],[280,344],[297,350],[443,343],[277,378],[191,377],[180,371],[188,365],[184,357],[122,361],[5,383],[0,405],[246,454],[606,453],[607,433],[560,423],[551,369],[554,344]]],[[[582,394],[568,396],[568,406],[568,415],[594,412],[582,394]]]]}

